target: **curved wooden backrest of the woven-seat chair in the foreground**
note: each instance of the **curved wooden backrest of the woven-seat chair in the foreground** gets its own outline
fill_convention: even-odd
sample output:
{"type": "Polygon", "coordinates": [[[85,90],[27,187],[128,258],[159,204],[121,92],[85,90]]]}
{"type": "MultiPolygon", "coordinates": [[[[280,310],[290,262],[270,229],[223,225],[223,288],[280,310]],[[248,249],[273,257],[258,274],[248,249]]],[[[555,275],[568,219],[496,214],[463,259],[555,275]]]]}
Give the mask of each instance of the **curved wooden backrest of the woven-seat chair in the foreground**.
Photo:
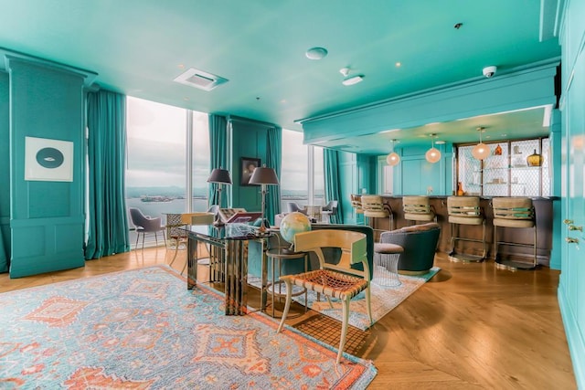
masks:
{"type": "Polygon", "coordinates": [[[294,249],[301,252],[313,251],[321,269],[335,269],[369,279],[367,264],[367,238],[364,233],[350,230],[312,230],[294,236],[294,249]],[[337,264],[325,262],[323,248],[340,248],[341,258],[337,264]],[[364,270],[352,269],[351,265],[362,263],[364,270]]]}

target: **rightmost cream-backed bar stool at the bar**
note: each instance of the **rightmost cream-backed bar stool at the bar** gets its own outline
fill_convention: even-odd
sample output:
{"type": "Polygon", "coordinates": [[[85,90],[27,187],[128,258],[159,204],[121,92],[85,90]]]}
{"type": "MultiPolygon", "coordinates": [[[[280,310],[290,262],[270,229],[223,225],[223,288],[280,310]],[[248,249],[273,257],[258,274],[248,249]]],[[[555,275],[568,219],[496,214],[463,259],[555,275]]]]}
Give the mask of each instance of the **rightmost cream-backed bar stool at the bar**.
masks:
{"type": "Polygon", "coordinates": [[[532,199],[527,197],[495,197],[492,199],[494,207],[494,258],[497,268],[501,269],[536,269],[537,268],[537,217],[532,199]],[[497,227],[532,228],[534,229],[534,243],[498,241],[497,227]],[[498,257],[498,245],[527,247],[533,250],[532,263],[503,260],[498,257]]]}

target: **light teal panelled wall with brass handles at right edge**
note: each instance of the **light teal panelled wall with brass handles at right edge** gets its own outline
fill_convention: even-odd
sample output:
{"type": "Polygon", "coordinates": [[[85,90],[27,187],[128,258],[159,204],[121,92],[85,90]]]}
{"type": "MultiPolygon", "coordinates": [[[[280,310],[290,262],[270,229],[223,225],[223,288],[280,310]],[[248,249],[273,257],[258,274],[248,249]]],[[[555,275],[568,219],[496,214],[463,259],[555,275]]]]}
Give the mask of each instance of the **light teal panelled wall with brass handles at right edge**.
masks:
{"type": "MultiPolygon", "coordinates": [[[[560,108],[561,130],[561,216],[573,226],[585,225],[585,2],[567,0],[561,13],[560,42],[562,47],[562,86],[560,108]]],[[[556,185],[555,185],[556,186],[556,185]]],[[[561,273],[558,286],[560,306],[577,386],[585,388],[585,234],[561,227],[561,273]],[[565,238],[577,238],[567,243],[565,238]]]]}

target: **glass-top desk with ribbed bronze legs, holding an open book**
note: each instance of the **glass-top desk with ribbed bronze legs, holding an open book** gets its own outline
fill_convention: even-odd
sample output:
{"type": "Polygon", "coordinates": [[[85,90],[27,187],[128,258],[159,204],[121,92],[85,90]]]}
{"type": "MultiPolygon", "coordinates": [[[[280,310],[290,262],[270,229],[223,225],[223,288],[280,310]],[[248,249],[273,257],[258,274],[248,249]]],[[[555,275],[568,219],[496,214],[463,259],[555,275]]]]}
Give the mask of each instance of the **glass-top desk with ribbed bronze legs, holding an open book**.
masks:
{"type": "MultiPolygon", "coordinates": [[[[204,244],[208,248],[209,255],[209,281],[225,285],[226,315],[246,314],[248,244],[251,240],[261,243],[262,263],[264,263],[266,238],[269,236],[255,237],[249,226],[240,224],[228,224],[224,227],[192,226],[185,230],[188,236],[187,289],[193,290],[197,285],[197,260],[200,259],[198,245],[204,244]]],[[[265,294],[265,289],[262,289],[262,309],[266,304],[265,294]]]]}

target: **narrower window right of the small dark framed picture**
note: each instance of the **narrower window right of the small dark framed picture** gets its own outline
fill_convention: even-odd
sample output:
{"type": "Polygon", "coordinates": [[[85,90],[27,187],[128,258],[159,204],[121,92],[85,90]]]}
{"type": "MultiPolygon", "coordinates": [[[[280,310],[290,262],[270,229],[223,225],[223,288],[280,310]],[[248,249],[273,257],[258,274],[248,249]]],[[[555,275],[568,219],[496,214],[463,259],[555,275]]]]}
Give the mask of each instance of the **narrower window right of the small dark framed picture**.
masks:
{"type": "Polygon", "coordinates": [[[303,145],[303,132],[282,129],[281,208],[324,206],[323,148],[303,145]]]}

